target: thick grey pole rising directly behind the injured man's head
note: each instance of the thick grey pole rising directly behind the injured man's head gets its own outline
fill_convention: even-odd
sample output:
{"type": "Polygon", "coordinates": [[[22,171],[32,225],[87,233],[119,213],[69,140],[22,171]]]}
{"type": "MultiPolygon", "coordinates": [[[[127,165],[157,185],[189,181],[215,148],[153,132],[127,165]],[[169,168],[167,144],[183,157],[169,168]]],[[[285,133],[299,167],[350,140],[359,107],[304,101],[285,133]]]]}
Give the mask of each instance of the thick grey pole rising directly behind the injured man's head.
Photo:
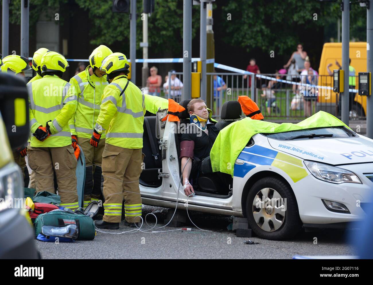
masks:
{"type": "Polygon", "coordinates": [[[182,100],[192,98],[192,0],[184,0],[183,14],[182,100]]]}

